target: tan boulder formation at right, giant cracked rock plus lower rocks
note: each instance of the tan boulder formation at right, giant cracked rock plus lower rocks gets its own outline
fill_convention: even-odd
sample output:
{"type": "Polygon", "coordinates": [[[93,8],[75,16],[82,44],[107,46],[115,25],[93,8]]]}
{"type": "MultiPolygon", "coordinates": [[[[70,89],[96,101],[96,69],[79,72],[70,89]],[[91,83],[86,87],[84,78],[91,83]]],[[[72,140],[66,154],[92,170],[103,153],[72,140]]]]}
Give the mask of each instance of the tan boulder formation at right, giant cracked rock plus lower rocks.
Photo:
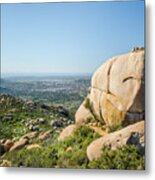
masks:
{"type": "Polygon", "coordinates": [[[88,146],[89,160],[98,159],[104,146],[133,144],[144,153],[144,98],[144,48],[134,48],[97,69],[75,124],[65,128],[59,140],[85,125],[102,136],[88,146]]]}

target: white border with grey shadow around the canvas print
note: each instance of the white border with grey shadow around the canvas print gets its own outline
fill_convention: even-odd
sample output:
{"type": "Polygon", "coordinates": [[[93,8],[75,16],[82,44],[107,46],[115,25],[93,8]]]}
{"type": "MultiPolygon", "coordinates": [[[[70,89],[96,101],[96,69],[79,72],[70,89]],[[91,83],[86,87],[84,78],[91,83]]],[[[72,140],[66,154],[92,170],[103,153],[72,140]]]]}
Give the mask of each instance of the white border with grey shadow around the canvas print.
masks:
{"type": "MultiPolygon", "coordinates": [[[[54,0],[60,2],[60,0],[54,0]]],[[[61,0],[65,1],[65,0],[61,0]]],[[[70,1],[70,0],[67,0],[70,1]]],[[[73,0],[72,0],[73,1],[73,0]]],[[[77,0],[76,0],[77,1],[77,0]]],[[[89,0],[91,1],[91,0],[89,0]]],[[[32,2],[31,0],[0,0],[6,2],[32,2]]],[[[33,0],[33,2],[47,2],[33,0]]],[[[48,2],[53,2],[49,0],[48,2]]],[[[146,0],[146,171],[103,171],[70,169],[0,168],[2,180],[146,180],[155,179],[155,0],[146,0]]]]}

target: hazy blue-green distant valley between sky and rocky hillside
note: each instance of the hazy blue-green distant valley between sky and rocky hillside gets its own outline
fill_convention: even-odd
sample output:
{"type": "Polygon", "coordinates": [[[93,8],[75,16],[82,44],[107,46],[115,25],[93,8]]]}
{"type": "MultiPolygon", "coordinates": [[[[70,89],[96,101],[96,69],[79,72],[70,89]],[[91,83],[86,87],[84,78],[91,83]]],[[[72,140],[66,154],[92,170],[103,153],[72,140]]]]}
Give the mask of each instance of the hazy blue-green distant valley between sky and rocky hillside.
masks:
{"type": "Polygon", "coordinates": [[[1,93],[48,105],[62,105],[72,116],[90,86],[90,76],[5,77],[1,93]]]}

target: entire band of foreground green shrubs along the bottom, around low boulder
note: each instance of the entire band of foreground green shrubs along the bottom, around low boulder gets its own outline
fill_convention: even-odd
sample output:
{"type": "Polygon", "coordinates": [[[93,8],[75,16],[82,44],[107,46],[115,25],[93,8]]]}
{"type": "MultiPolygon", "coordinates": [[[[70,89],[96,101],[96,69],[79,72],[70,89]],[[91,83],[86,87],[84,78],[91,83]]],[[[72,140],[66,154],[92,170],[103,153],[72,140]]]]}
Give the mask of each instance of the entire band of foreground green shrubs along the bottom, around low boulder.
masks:
{"type": "Polygon", "coordinates": [[[144,156],[135,146],[124,146],[117,150],[103,148],[99,160],[89,161],[86,155],[88,145],[99,135],[87,127],[75,132],[63,142],[53,140],[41,149],[8,152],[4,159],[13,166],[45,168],[90,168],[90,169],[145,169],[144,156]]]}

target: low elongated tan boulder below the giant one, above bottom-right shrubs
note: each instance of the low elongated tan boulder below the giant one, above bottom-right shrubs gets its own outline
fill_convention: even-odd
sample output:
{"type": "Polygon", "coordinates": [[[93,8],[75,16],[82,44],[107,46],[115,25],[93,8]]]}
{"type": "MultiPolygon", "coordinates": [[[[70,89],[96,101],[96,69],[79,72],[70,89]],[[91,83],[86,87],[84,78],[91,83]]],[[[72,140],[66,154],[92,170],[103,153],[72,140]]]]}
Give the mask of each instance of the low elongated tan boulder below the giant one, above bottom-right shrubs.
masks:
{"type": "Polygon", "coordinates": [[[93,141],[87,148],[87,156],[91,161],[101,156],[104,146],[110,146],[112,150],[115,150],[118,147],[132,144],[142,152],[144,151],[144,121],[129,125],[93,141]]]}

